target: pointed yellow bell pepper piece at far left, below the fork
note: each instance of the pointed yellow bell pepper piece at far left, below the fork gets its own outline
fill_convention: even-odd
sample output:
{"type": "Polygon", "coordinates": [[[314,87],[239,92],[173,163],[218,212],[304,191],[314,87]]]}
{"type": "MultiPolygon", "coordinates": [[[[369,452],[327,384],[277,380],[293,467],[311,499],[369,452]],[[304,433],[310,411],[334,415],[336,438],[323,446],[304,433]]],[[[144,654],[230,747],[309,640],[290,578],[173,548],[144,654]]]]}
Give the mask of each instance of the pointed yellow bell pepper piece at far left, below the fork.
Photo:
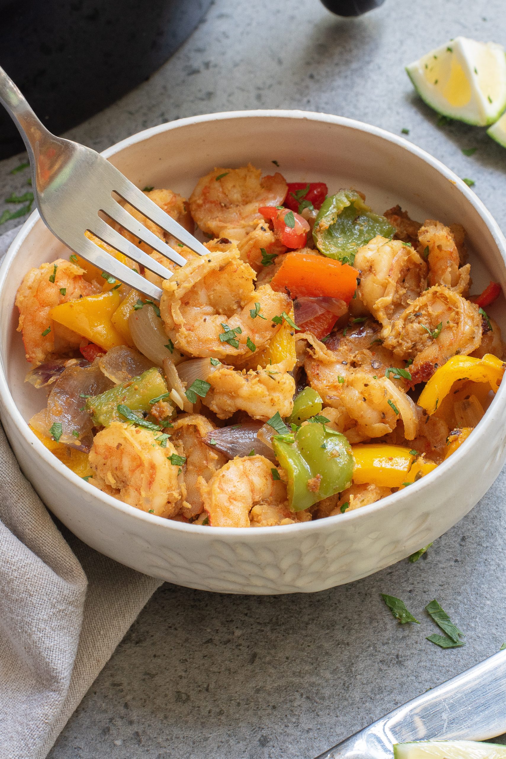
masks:
{"type": "Polygon", "coordinates": [[[52,308],[49,316],[108,351],[115,345],[123,345],[123,337],[111,322],[119,305],[120,294],[117,290],[111,290],[61,303],[52,308]]]}

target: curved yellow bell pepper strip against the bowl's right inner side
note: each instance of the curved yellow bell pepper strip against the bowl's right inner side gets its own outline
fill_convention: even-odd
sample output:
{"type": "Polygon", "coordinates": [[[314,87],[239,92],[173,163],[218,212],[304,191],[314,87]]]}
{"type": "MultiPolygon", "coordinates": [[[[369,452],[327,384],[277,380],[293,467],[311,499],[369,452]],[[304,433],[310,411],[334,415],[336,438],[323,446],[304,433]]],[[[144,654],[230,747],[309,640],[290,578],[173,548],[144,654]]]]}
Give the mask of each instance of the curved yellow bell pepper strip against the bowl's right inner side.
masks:
{"type": "Polygon", "coordinates": [[[450,392],[453,383],[459,379],[489,383],[492,390],[497,392],[504,367],[506,364],[491,353],[486,353],[483,358],[452,356],[426,383],[418,398],[418,405],[424,408],[427,414],[433,414],[442,399],[450,392]]]}

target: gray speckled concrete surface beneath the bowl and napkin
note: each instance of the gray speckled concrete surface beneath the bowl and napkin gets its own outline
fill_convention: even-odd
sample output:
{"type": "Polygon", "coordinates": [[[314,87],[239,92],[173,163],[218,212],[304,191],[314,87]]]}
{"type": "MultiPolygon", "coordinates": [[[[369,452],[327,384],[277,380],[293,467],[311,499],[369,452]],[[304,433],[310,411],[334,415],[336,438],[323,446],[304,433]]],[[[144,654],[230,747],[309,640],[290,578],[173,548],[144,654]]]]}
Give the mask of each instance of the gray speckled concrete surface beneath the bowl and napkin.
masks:
{"type": "MultiPolygon", "coordinates": [[[[139,24],[142,19],[139,19],[139,24]]],[[[462,34],[503,42],[502,0],[386,0],[340,20],[318,0],[216,0],[150,80],[70,133],[102,150],[187,115],[300,108],[377,124],[433,153],[506,229],[506,151],[485,131],[437,115],[404,65],[462,34]],[[476,147],[472,157],[463,148],[476,147]]],[[[0,198],[23,191],[23,160],[0,163],[0,198]]],[[[0,201],[0,215],[4,209],[0,201]]],[[[8,222],[0,231],[15,222],[8,222]]],[[[321,594],[155,594],[62,732],[51,759],[308,757],[506,641],[506,471],[426,559],[321,594]],[[421,625],[401,627],[379,593],[403,598],[421,625]],[[467,644],[440,650],[423,606],[436,597],[467,644]]]]}

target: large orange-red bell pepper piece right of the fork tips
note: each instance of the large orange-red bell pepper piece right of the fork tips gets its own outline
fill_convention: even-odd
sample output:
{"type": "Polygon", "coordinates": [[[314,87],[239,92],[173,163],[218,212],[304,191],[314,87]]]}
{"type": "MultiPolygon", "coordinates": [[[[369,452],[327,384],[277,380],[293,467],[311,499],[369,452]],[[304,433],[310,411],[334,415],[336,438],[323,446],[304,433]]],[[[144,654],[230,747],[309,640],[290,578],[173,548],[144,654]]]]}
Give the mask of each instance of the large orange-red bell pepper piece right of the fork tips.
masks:
{"type": "Polygon", "coordinates": [[[358,269],[348,263],[309,253],[290,253],[284,256],[270,286],[279,292],[288,290],[292,299],[307,295],[340,298],[348,304],[357,288],[357,277],[358,269]]]}

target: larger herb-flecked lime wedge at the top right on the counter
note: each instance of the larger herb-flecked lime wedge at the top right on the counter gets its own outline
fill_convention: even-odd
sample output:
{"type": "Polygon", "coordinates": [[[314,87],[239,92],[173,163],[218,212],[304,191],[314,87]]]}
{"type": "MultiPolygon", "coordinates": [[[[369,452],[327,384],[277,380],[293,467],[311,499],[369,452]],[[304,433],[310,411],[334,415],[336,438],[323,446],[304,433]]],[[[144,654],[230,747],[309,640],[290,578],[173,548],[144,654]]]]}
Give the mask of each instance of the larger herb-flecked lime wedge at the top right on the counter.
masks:
{"type": "Polygon", "coordinates": [[[506,108],[506,55],[495,43],[455,37],[406,67],[427,106],[485,127],[506,108]]]}

